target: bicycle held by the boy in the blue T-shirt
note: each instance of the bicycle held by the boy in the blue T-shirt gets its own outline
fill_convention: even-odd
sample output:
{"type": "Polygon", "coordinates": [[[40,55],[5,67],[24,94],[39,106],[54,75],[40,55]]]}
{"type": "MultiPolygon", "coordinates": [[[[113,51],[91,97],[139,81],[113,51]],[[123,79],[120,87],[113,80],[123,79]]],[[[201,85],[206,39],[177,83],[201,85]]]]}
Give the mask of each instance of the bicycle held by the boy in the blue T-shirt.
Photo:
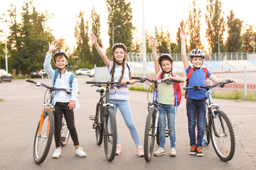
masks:
{"type": "Polygon", "coordinates": [[[223,162],[230,161],[235,154],[235,134],[228,115],[220,111],[218,104],[213,103],[212,96],[219,87],[223,88],[225,84],[232,82],[224,81],[213,86],[184,87],[184,90],[194,89],[195,91],[200,91],[201,89],[206,89],[208,113],[206,113],[206,130],[203,145],[208,145],[211,139],[215,153],[223,162]],[[216,86],[218,88],[213,91],[213,88],[216,86]]]}

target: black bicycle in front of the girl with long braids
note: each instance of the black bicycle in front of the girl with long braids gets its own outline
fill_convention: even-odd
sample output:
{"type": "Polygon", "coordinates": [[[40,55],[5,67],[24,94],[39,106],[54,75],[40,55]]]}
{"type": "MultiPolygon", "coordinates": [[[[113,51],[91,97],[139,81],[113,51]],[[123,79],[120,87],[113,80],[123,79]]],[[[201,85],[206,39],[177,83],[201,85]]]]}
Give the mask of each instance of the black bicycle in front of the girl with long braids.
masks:
{"type": "Polygon", "coordinates": [[[92,128],[95,129],[97,145],[102,144],[104,135],[105,156],[109,162],[112,162],[117,150],[117,121],[114,115],[114,106],[110,104],[110,88],[124,85],[120,82],[110,81],[86,81],[86,83],[99,87],[96,91],[100,93],[100,101],[97,102],[95,115],[90,115],[89,119],[93,120],[92,128]],[[105,88],[101,88],[102,86],[105,88]]]}

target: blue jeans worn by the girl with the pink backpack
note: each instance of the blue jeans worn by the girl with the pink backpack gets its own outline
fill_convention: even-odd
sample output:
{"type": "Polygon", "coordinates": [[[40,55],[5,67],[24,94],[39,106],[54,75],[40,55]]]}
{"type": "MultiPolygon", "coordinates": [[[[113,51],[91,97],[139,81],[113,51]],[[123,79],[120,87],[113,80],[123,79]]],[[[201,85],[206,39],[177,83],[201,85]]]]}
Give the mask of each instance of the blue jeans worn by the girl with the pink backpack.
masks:
{"type": "Polygon", "coordinates": [[[159,106],[159,143],[160,147],[165,149],[166,142],[166,115],[168,122],[168,130],[171,141],[171,147],[176,148],[176,134],[175,134],[175,110],[174,105],[159,106]]]}

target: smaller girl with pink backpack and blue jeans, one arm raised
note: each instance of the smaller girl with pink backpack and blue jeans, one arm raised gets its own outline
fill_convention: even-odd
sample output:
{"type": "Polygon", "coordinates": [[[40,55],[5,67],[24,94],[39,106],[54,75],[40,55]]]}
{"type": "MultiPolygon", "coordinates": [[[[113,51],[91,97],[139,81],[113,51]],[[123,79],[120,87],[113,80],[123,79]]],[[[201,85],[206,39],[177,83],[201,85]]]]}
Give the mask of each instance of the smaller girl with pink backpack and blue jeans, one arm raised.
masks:
{"type": "MultiPolygon", "coordinates": [[[[150,45],[152,47],[152,53],[154,57],[155,71],[158,79],[162,81],[166,79],[173,79],[176,81],[184,82],[182,77],[174,75],[172,67],[174,64],[173,58],[168,54],[163,54],[159,58],[156,54],[156,41],[151,36],[149,38],[150,45]],[[160,70],[160,67],[161,70],[160,70]]],[[[180,90],[179,84],[159,84],[159,92],[157,95],[157,102],[159,103],[159,149],[154,152],[155,156],[161,156],[166,154],[165,142],[166,142],[166,115],[169,129],[169,136],[171,140],[170,157],[176,157],[176,132],[175,132],[175,106],[178,106],[181,101],[181,93],[178,95],[177,89],[180,90]]]]}

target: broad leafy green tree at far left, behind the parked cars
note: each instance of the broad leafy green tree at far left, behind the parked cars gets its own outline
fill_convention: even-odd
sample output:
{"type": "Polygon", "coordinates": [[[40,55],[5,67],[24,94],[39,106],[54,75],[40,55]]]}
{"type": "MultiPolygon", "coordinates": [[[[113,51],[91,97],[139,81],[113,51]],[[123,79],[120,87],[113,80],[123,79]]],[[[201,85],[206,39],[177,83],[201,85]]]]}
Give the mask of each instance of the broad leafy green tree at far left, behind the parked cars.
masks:
{"type": "Polygon", "coordinates": [[[16,73],[28,74],[33,69],[42,69],[46,54],[46,45],[53,40],[45,23],[50,18],[47,13],[38,13],[32,2],[24,3],[21,13],[22,21],[16,20],[16,7],[11,5],[8,37],[9,63],[16,73]],[[30,10],[32,8],[32,11],[30,10]]]}

